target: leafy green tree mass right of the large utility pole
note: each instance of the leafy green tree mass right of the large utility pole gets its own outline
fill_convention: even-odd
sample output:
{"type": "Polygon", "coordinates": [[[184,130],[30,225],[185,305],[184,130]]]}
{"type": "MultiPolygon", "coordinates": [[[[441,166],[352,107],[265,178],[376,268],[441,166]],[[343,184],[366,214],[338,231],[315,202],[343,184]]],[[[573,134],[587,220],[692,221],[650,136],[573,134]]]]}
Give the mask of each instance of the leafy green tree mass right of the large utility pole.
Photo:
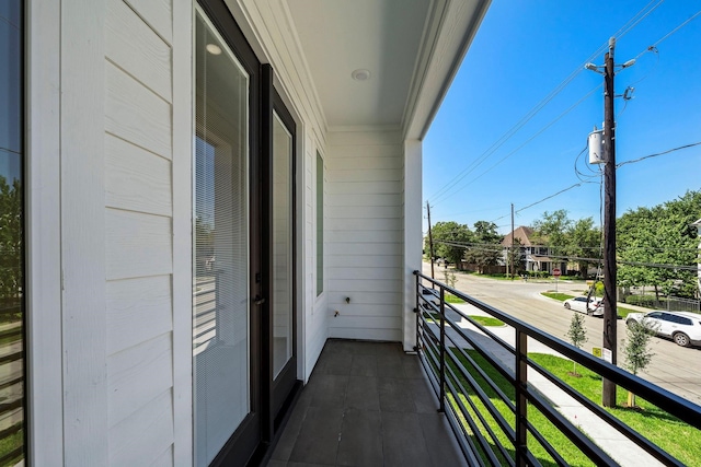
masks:
{"type": "Polygon", "coordinates": [[[690,224],[701,218],[701,190],[687,191],[653,208],[629,210],[617,222],[619,284],[652,285],[659,295],[696,293],[697,232],[690,224]],[[630,262],[636,262],[631,265],[630,262]],[[679,265],[688,269],[658,267],[679,265]]]}

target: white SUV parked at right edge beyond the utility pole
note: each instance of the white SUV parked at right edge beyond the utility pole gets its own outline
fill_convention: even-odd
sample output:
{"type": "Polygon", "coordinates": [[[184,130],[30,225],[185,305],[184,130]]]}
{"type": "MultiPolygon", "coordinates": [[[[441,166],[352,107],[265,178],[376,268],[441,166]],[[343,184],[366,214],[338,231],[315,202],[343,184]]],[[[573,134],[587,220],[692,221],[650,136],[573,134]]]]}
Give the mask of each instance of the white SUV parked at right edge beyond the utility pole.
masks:
{"type": "Polygon", "coordinates": [[[630,313],[625,324],[643,323],[658,336],[670,337],[677,346],[701,346],[701,315],[689,312],[655,311],[647,314],[630,313]]]}

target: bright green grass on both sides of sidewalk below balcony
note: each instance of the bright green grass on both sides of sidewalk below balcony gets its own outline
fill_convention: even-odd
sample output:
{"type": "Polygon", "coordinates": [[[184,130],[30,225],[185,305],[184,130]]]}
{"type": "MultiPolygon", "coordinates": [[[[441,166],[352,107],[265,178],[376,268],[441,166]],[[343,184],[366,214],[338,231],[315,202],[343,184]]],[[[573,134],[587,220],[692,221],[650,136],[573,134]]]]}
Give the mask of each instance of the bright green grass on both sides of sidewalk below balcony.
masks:
{"type": "MultiPolygon", "coordinates": [[[[508,384],[507,381],[503,378],[501,374],[486,362],[486,360],[482,359],[476,351],[468,350],[467,352],[472,359],[474,359],[478,365],[483,371],[485,371],[489,377],[499,386],[504,394],[512,401],[514,401],[514,387],[508,384]]],[[[458,352],[456,351],[456,354],[458,352]]],[[[530,354],[529,357],[540,365],[551,371],[558,377],[570,384],[573,388],[585,395],[590,400],[597,404],[600,402],[601,378],[596,373],[593,373],[589,370],[577,365],[577,373],[579,373],[582,376],[575,377],[570,375],[570,372],[573,371],[573,362],[570,360],[545,354],[530,354]]],[[[476,370],[474,370],[464,358],[458,355],[458,359],[461,361],[468,372],[475,378],[479,386],[486,393],[491,402],[496,407],[499,413],[502,413],[507,423],[514,427],[514,413],[508,409],[506,404],[503,402],[502,399],[496,395],[496,393],[486,385],[484,380],[482,380],[482,377],[478,374],[476,370]]],[[[467,380],[460,378],[460,382],[467,387],[467,380]]],[[[490,429],[495,433],[495,437],[498,440],[498,442],[507,447],[506,451],[513,458],[513,446],[510,446],[506,435],[498,428],[497,422],[493,417],[487,415],[486,407],[476,395],[472,394],[472,390],[468,390],[468,396],[460,395],[459,401],[452,398],[452,396],[449,396],[451,405],[456,408],[459,405],[464,406],[468,411],[468,417],[479,423],[479,418],[476,417],[474,409],[471,408],[468,404],[467,397],[469,397],[470,400],[472,400],[472,402],[476,406],[476,409],[484,415],[486,419],[486,425],[490,427],[490,429]]],[[[701,465],[701,431],[693,429],[686,423],[682,423],[678,419],[670,417],[668,413],[657,409],[655,406],[640,398],[637,398],[636,400],[637,408],[629,409],[625,407],[628,392],[619,388],[619,390],[617,392],[617,400],[619,407],[607,410],[611,415],[636,430],[639,433],[648,437],[652,442],[659,445],[673,456],[677,457],[682,463],[689,466],[701,465]]],[[[570,440],[567,440],[566,436],[564,436],[558,428],[552,425],[552,423],[535,407],[529,405],[528,413],[529,421],[538,429],[538,431],[540,431],[540,433],[551,443],[551,445],[558,448],[560,455],[562,455],[568,464],[577,466],[594,465],[591,460],[589,460],[584,454],[582,454],[582,452],[579,452],[579,450],[570,440]]],[[[462,423],[467,427],[467,432],[471,434],[473,441],[475,441],[476,443],[476,437],[473,434],[474,432],[468,427],[467,419],[464,418],[464,416],[460,416],[460,418],[462,420],[462,423]]],[[[490,445],[493,450],[495,450],[495,442],[489,435],[486,428],[484,425],[480,425],[478,428],[480,432],[482,432],[487,437],[487,440],[490,440],[490,445]]],[[[545,450],[532,436],[529,436],[528,439],[528,446],[542,465],[555,465],[554,460],[550,457],[545,450]]],[[[481,456],[485,458],[485,453],[481,452],[481,456]]],[[[497,457],[499,458],[499,462],[502,464],[506,463],[503,454],[498,454],[497,457]]]]}

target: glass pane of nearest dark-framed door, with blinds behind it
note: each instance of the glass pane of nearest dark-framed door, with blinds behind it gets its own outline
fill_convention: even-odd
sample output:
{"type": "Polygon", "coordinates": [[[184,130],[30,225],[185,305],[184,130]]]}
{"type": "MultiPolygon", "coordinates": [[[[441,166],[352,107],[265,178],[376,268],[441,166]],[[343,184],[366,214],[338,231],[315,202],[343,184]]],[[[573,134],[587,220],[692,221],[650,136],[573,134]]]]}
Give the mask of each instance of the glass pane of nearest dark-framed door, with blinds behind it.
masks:
{"type": "Polygon", "coordinates": [[[251,412],[250,77],[199,9],[195,35],[194,431],[209,465],[251,412]]]}

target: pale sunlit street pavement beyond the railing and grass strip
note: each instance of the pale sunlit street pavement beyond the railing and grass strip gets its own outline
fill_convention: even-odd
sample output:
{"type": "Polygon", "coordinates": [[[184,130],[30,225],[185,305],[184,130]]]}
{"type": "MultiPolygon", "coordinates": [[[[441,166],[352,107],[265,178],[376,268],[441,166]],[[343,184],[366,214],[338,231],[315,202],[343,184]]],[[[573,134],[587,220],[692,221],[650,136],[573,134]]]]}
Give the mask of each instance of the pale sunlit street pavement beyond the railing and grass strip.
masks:
{"type": "MultiPolygon", "coordinates": [[[[429,264],[424,264],[424,273],[430,276],[429,264]]],[[[436,267],[435,273],[436,280],[445,281],[443,267],[436,267]]],[[[512,282],[475,275],[455,273],[458,279],[456,289],[567,341],[566,334],[572,314],[576,312],[565,310],[561,302],[540,295],[541,292],[554,291],[554,281],[533,282],[517,279],[512,282]]],[[[565,280],[558,281],[556,285],[559,292],[573,295],[582,294],[586,289],[582,282],[565,280]]],[[[602,319],[585,316],[585,322],[588,340],[583,348],[590,350],[591,347],[601,347],[602,319]]],[[[617,334],[618,364],[623,366],[622,349],[625,339],[623,320],[619,319],[617,334]]],[[[651,348],[654,353],[652,363],[639,376],[701,405],[701,349],[682,348],[671,340],[659,337],[652,339],[651,348]]]]}

